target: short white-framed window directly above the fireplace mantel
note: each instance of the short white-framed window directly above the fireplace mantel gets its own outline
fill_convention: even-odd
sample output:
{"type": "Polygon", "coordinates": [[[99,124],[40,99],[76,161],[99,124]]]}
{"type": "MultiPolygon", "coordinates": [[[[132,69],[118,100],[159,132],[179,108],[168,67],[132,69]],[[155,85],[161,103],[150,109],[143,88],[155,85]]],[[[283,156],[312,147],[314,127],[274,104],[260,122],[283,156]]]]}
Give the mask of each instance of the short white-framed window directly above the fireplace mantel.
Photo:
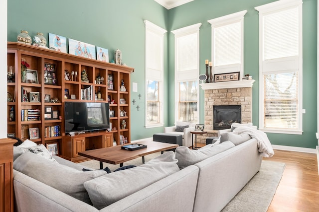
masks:
{"type": "Polygon", "coordinates": [[[240,72],[243,76],[244,15],[247,10],[208,20],[212,34],[214,73],[240,72]]]}

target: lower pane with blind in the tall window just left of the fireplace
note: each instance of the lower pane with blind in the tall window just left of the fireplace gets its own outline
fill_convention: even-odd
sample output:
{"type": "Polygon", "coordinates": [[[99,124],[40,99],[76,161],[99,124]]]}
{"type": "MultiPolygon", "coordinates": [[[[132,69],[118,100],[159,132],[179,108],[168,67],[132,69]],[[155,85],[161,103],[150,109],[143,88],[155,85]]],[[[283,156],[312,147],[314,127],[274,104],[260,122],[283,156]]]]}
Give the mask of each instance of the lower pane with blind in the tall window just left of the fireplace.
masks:
{"type": "Polygon", "coordinates": [[[197,86],[197,81],[179,83],[178,121],[198,123],[197,86]]]}

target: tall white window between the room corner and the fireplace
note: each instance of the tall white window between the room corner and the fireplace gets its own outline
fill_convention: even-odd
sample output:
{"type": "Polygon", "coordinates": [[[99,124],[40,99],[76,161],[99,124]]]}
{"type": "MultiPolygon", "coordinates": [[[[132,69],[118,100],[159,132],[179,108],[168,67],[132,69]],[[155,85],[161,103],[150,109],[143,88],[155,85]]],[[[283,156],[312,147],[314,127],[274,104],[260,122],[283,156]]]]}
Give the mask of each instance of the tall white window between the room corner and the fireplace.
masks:
{"type": "Polygon", "coordinates": [[[199,122],[199,27],[173,30],[175,35],[175,121],[199,122]]]}

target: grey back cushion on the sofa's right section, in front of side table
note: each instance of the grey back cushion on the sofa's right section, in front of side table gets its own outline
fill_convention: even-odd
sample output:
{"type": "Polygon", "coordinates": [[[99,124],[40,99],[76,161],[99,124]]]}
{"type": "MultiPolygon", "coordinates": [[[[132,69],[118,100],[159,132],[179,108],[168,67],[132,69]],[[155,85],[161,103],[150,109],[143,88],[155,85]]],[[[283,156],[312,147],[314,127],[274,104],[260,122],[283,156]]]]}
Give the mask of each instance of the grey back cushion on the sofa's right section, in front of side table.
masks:
{"type": "Polygon", "coordinates": [[[215,146],[208,144],[200,149],[189,149],[186,146],[178,146],[175,150],[176,159],[178,160],[177,165],[180,169],[183,169],[234,146],[230,141],[225,141],[215,146]]]}

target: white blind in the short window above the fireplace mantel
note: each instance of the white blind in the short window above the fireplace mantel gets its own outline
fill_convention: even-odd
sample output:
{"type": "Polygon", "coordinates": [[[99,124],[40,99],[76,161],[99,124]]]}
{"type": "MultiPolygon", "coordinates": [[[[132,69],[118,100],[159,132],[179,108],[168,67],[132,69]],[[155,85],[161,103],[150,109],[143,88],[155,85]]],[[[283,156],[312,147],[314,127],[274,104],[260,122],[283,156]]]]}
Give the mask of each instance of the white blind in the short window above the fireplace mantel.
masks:
{"type": "Polygon", "coordinates": [[[215,66],[241,63],[241,22],[215,27],[215,66]]]}

